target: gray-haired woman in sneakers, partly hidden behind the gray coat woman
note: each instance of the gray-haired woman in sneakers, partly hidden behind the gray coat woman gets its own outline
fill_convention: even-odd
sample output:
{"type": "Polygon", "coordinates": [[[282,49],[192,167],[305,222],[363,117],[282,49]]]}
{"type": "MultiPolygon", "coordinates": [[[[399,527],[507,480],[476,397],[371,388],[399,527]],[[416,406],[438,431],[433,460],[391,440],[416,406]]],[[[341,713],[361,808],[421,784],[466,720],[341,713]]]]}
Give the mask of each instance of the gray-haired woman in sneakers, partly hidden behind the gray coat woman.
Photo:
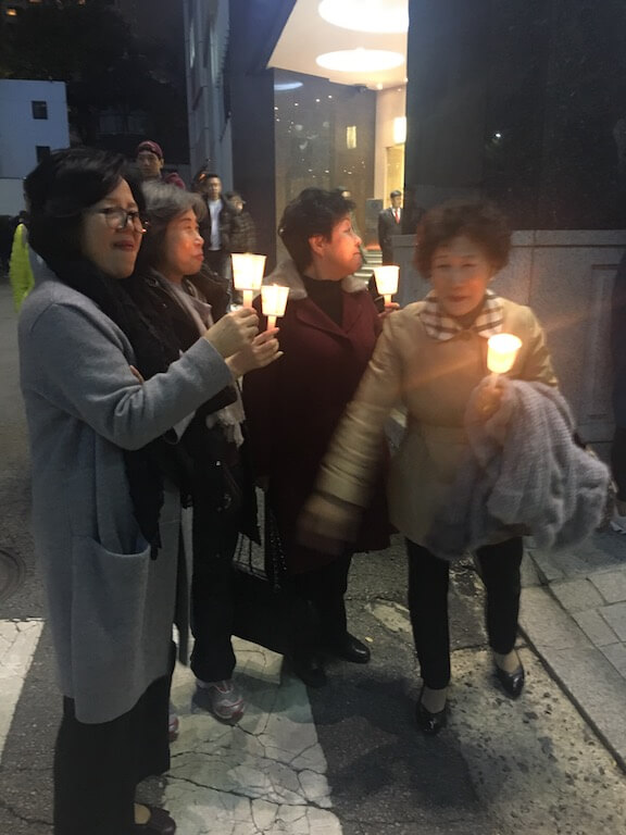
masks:
{"type": "MultiPolygon", "coordinates": [[[[140,310],[151,310],[164,320],[170,339],[185,351],[226,314],[228,304],[224,285],[202,263],[199,223],[206,209],[199,195],[159,183],[145,184],[143,194],[149,225],[129,279],[130,294],[140,310]]],[[[226,722],[237,722],[245,710],[233,681],[233,558],[240,532],[259,538],[237,379],[280,357],[276,333],[260,334],[249,349],[228,358],[234,382],[180,427],[186,493],[193,509],[193,701],[226,722]]]]}

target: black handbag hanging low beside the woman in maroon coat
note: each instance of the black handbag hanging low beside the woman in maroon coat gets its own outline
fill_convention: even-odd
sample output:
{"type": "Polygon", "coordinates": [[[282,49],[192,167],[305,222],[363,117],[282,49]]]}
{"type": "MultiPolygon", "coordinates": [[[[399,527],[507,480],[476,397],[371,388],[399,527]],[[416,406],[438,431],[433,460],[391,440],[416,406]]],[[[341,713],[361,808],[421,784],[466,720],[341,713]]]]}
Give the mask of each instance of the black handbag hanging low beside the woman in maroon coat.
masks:
{"type": "Polygon", "coordinates": [[[265,502],[263,548],[239,538],[233,562],[233,634],[283,656],[313,628],[311,606],[285,588],[285,553],[274,513],[265,502]]]}

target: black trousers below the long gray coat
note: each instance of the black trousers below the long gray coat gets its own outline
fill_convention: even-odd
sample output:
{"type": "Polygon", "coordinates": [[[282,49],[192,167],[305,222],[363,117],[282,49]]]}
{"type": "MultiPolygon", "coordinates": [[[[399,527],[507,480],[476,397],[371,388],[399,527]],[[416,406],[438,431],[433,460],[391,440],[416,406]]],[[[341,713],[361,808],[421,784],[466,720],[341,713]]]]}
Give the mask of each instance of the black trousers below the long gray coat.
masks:
{"type": "Polygon", "coordinates": [[[170,768],[171,682],[171,675],[159,678],[132,710],[100,724],[79,722],[73,699],[63,699],[54,748],[54,835],[133,835],[137,784],[170,768]]]}

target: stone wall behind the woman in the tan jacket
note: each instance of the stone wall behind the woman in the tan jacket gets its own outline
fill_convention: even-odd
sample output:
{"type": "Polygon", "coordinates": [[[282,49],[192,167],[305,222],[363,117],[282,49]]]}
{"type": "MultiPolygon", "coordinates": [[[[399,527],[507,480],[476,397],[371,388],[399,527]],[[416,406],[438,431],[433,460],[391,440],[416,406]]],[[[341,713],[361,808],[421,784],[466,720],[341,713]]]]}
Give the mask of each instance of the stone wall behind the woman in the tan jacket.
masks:
{"type": "MultiPolygon", "coordinates": [[[[403,307],[423,298],[428,283],[412,264],[413,237],[393,240],[403,307]]],[[[529,304],[541,321],[580,435],[594,443],[613,432],[609,313],[625,250],[626,232],[516,232],[510,263],[493,281],[497,292],[529,304]]]]}

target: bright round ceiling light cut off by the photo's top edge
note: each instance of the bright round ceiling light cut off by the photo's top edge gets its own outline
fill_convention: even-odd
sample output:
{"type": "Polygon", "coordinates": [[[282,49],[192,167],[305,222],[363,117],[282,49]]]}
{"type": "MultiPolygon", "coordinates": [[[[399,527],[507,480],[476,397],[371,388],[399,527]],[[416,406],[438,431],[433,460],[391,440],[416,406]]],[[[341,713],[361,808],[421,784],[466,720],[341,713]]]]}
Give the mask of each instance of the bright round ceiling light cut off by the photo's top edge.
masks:
{"type": "Polygon", "coordinates": [[[323,0],[320,16],[352,32],[391,35],[409,29],[408,0],[323,0]]]}

